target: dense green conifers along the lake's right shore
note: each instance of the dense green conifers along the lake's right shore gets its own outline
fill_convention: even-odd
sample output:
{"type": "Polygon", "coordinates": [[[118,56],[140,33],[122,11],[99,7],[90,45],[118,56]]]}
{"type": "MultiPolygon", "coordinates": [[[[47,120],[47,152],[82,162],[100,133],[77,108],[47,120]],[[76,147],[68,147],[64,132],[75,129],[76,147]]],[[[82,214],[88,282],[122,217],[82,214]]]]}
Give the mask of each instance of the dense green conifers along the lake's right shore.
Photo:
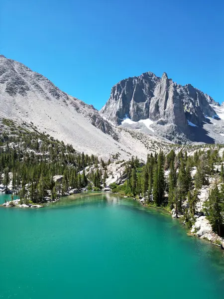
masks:
{"type": "MultiPolygon", "coordinates": [[[[215,187],[212,188],[206,203],[205,213],[214,230],[222,233],[224,225],[224,155],[219,156],[218,149],[196,150],[193,155],[180,150],[177,154],[172,149],[168,154],[163,151],[148,154],[147,162],[141,166],[138,158],[126,163],[127,180],[122,186],[112,185],[113,192],[145,198],[155,206],[174,209],[176,216],[184,214],[189,226],[194,222],[196,204],[199,201],[200,189],[209,185],[209,178],[216,176],[215,187]],[[217,170],[216,165],[221,165],[217,170]],[[192,176],[193,167],[196,173],[192,176]],[[169,170],[168,177],[165,171],[169,170]],[[192,178],[194,177],[194,179],[192,178]],[[221,183],[221,187],[220,186],[221,183]],[[188,199],[188,205],[183,202],[188,199]]],[[[224,229],[223,229],[224,230],[224,229]]]]}

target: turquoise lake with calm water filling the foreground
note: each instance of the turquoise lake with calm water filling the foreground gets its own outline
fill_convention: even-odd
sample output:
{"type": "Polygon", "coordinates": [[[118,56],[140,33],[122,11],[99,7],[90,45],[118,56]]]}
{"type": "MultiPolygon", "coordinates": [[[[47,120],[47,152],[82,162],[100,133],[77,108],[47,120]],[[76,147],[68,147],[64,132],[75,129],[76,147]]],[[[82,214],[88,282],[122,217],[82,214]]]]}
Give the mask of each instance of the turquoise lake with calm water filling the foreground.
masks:
{"type": "Polygon", "coordinates": [[[224,298],[224,252],[169,214],[110,194],[0,207],[0,298],[199,297],[224,298]]]}

